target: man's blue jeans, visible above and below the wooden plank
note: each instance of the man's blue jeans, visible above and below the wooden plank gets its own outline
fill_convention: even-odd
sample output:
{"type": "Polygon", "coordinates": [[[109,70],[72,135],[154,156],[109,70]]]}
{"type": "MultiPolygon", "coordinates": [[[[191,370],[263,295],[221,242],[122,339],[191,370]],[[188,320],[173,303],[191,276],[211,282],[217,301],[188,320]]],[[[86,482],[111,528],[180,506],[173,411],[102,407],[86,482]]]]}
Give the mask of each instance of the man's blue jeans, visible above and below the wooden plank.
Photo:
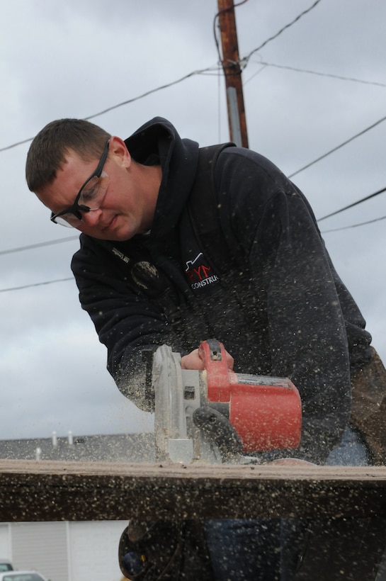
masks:
{"type": "MultiPolygon", "coordinates": [[[[368,454],[347,429],[330,466],[367,466],[368,454]]],[[[224,519],[205,522],[214,581],[292,581],[307,543],[301,519],[224,519]]]]}

